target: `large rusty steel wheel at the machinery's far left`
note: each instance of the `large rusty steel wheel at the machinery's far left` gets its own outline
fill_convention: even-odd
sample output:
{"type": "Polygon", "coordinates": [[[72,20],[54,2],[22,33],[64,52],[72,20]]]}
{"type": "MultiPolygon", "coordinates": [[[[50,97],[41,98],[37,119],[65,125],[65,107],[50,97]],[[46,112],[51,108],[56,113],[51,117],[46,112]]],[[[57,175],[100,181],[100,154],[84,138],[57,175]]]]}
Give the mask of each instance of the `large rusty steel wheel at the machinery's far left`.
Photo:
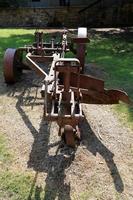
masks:
{"type": "Polygon", "coordinates": [[[15,83],[22,73],[22,52],[16,49],[7,49],[4,55],[4,78],[7,84],[15,83]]]}

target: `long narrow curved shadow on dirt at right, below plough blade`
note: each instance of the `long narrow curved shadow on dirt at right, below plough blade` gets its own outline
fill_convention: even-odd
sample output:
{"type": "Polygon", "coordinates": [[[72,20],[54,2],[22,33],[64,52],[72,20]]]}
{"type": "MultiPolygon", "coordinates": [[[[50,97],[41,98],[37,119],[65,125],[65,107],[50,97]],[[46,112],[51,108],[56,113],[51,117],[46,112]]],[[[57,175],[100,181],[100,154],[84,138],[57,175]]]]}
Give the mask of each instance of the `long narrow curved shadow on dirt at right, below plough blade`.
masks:
{"type": "Polygon", "coordinates": [[[122,193],[124,191],[124,184],[117,165],[114,162],[114,154],[95,135],[86,118],[83,123],[80,124],[80,129],[82,134],[82,144],[85,145],[88,151],[90,151],[94,156],[99,153],[104,158],[110,170],[116,191],[122,193]]]}

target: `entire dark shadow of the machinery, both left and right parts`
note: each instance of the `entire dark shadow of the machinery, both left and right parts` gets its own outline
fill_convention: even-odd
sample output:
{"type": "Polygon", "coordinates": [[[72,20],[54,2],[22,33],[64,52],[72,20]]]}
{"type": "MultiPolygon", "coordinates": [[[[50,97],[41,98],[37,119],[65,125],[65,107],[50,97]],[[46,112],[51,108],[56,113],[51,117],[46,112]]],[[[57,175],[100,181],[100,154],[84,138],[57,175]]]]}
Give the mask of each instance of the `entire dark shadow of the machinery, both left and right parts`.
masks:
{"type": "MultiPolygon", "coordinates": [[[[59,200],[71,200],[71,185],[66,181],[67,174],[65,170],[69,168],[73,162],[75,154],[71,154],[71,156],[66,158],[63,153],[64,151],[68,151],[68,149],[66,150],[64,147],[60,147],[60,141],[52,144],[50,143],[51,124],[44,121],[43,118],[40,121],[38,130],[32,124],[23,107],[31,106],[32,108],[41,104],[38,98],[40,81],[38,79],[31,81],[28,77],[29,76],[24,77],[26,78],[25,82],[18,83],[8,90],[8,96],[17,98],[16,109],[34,138],[27,166],[28,168],[33,168],[36,175],[33,183],[31,184],[31,190],[27,198],[30,200],[34,195],[35,199],[41,199],[40,196],[43,191],[45,193],[44,200],[55,200],[57,196],[59,200]],[[34,96],[32,94],[33,87],[34,96]],[[17,93],[19,93],[19,95],[16,95],[17,93]],[[54,155],[51,155],[49,150],[53,147],[57,147],[57,150],[60,148],[60,152],[58,153],[57,151],[54,155]],[[36,186],[39,172],[47,174],[47,177],[44,180],[45,188],[36,186]]],[[[41,105],[43,109],[43,104],[41,105]]],[[[80,124],[80,129],[83,145],[86,145],[88,151],[90,151],[94,156],[99,153],[104,158],[113,178],[115,188],[119,193],[121,193],[124,190],[124,184],[113,160],[113,153],[98,139],[91,129],[87,119],[80,124]]]]}

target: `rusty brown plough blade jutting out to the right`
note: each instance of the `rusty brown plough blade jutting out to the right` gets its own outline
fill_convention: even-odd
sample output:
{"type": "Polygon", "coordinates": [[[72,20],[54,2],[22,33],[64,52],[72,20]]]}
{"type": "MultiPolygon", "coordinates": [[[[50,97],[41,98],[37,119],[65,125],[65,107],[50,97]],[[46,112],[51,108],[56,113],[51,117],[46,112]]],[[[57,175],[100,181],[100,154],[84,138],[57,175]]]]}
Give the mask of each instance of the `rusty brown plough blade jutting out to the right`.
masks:
{"type": "MultiPolygon", "coordinates": [[[[71,87],[76,88],[78,75],[72,74],[71,87]]],[[[128,95],[121,90],[107,90],[104,81],[88,75],[80,75],[79,87],[81,91],[81,102],[87,104],[118,104],[119,101],[130,104],[128,95]]],[[[75,89],[74,89],[75,90],[75,89]]]]}

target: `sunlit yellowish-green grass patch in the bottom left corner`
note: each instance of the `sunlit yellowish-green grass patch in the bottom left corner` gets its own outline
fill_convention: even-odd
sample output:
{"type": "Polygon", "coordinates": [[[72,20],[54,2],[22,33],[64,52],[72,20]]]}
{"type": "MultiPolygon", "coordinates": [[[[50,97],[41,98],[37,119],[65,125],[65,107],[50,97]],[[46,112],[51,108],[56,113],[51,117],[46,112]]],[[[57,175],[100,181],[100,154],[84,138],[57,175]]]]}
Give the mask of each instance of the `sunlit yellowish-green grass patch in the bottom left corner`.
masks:
{"type": "MultiPolygon", "coordinates": [[[[12,162],[13,155],[9,153],[6,138],[0,133],[0,199],[26,200],[33,177],[27,172],[12,171],[12,162]]],[[[31,196],[31,199],[34,198],[31,196]]]]}

